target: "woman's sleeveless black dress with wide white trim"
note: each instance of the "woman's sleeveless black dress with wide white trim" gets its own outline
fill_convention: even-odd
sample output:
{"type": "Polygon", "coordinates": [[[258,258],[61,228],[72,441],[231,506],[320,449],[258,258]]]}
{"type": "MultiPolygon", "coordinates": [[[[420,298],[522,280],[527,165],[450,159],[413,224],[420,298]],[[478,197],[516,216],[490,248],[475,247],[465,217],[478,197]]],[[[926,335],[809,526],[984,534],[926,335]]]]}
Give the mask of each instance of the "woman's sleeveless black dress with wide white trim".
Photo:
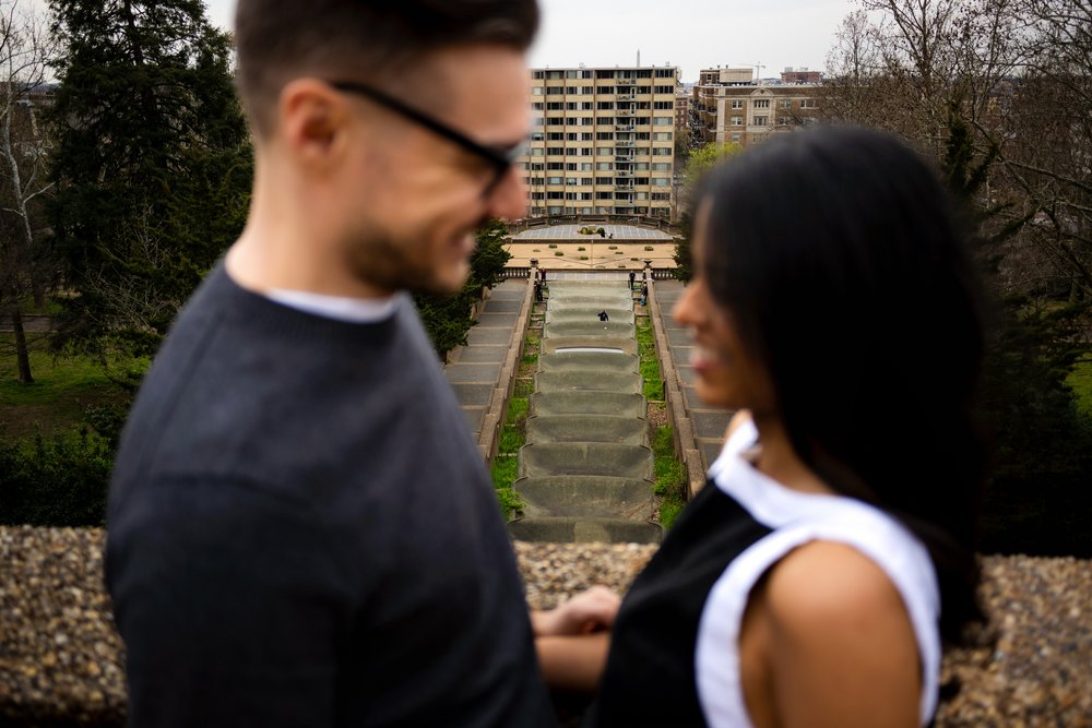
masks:
{"type": "Polygon", "coordinates": [[[758,472],[758,433],[738,428],[626,596],[592,726],[750,727],[739,680],[739,628],[751,589],[794,548],[836,541],[898,588],[917,636],[921,723],[936,711],[940,670],[936,573],[925,547],[890,515],[841,496],[802,493],[758,472]]]}

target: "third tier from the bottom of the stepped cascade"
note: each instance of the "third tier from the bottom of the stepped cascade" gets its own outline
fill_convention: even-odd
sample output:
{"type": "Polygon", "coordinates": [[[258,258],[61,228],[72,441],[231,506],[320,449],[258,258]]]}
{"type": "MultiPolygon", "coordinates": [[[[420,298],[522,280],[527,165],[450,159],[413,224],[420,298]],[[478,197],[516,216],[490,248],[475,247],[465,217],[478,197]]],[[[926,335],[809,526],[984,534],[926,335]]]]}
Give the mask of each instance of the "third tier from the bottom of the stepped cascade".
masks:
{"type": "Polygon", "coordinates": [[[653,478],[652,450],[610,442],[541,442],[520,449],[520,475],[653,478]]]}

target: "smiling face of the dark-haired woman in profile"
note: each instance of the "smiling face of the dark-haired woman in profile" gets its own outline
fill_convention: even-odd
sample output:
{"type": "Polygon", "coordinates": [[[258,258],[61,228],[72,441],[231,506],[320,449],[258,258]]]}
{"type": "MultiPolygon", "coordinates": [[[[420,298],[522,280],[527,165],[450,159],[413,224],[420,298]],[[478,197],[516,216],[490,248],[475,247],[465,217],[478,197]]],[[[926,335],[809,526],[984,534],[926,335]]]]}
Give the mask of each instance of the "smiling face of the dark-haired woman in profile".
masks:
{"type": "Polygon", "coordinates": [[[716,303],[705,274],[705,251],[715,244],[705,235],[709,203],[698,212],[691,242],[695,276],[675,306],[675,320],[690,329],[697,374],[695,389],[702,402],[717,407],[772,411],[773,386],[764,366],[748,354],[734,317],[716,303]]]}

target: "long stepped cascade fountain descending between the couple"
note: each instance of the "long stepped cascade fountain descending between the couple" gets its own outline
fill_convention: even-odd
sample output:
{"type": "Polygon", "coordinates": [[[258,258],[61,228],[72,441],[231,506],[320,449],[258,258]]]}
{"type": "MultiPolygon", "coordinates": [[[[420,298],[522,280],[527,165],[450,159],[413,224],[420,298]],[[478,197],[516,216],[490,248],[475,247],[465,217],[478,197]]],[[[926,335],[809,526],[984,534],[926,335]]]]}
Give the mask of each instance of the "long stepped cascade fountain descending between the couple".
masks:
{"type": "Polygon", "coordinates": [[[656,542],[653,454],[625,281],[554,281],[531,396],[512,536],[656,542]],[[607,320],[601,321],[600,313],[607,320]]]}

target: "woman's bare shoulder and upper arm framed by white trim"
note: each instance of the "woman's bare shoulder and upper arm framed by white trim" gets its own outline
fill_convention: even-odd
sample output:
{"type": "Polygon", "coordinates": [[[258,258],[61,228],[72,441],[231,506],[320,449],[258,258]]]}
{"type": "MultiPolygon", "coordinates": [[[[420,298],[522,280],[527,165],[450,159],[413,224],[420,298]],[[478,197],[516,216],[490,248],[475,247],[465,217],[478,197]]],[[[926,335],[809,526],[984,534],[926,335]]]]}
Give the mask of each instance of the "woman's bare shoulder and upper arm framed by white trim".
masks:
{"type": "Polygon", "coordinates": [[[905,606],[848,546],[807,544],[770,571],[748,605],[740,661],[756,726],[921,725],[922,665],[905,606]]]}

